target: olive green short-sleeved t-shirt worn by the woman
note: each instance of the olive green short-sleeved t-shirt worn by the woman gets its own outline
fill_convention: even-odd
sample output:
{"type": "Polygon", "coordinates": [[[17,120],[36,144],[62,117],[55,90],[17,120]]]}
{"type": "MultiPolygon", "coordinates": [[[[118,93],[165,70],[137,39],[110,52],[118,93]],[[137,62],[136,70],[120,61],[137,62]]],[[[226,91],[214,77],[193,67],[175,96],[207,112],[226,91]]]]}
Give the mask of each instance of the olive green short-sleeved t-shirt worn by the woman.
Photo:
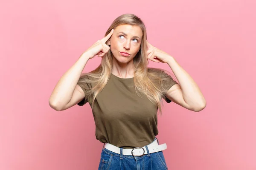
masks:
{"type": "MultiPolygon", "coordinates": [[[[164,83],[168,88],[177,84],[170,76],[169,81],[164,83]]],[[[171,102],[166,96],[163,99],[171,102]]],[[[87,102],[91,105],[92,99],[85,97],[78,105],[87,102]]],[[[111,74],[108,83],[96,96],[93,118],[96,139],[117,147],[143,147],[158,134],[157,106],[147,96],[136,94],[134,78],[120,78],[111,74]]]]}

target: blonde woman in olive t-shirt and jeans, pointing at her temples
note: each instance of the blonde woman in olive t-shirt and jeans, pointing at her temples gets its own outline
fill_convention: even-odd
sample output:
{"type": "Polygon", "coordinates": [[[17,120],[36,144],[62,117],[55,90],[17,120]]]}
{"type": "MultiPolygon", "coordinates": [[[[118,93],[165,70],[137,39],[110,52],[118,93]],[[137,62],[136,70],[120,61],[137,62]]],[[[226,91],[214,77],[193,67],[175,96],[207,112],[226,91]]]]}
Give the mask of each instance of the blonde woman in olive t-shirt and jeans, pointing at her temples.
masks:
{"type": "Polygon", "coordinates": [[[143,21],[123,14],[105,37],[88,48],[61,77],[49,99],[56,111],[89,103],[96,139],[103,143],[99,170],[167,170],[156,136],[161,99],[191,111],[206,106],[198,85],[169,54],[147,41],[143,21]],[[90,73],[82,71],[89,59],[102,57],[90,73]],[[148,68],[148,59],[170,66],[177,83],[160,68],[148,68]]]}

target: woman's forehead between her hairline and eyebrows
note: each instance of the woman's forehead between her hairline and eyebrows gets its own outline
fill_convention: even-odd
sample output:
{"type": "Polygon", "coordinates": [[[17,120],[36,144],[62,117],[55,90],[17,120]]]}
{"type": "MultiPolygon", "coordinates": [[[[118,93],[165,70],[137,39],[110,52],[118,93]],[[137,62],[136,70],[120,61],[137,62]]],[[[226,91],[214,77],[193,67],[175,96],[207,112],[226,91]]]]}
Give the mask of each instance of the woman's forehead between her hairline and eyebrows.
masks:
{"type": "Polygon", "coordinates": [[[114,29],[114,33],[118,34],[120,32],[123,32],[129,36],[138,36],[138,37],[142,37],[143,32],[140,28],[140,26],[132,26],[132,25],[128,25],[128,24],[123,24],[120,26],[117,26],[114,29]]]}

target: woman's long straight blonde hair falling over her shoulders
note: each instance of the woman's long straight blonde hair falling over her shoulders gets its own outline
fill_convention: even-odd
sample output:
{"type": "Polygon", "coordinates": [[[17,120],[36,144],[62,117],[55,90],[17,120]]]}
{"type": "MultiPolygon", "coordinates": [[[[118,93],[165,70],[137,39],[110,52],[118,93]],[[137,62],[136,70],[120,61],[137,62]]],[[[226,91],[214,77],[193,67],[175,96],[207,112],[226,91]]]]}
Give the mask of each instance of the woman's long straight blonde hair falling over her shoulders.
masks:
{"type": "MultiPolygon", "coordinates": [[[[162,114],[161,109],[161,99],[164,97],[164,94],[169,89],[166,89],[164,82],[170,78],[170,76],[164,73],[163,69],[158,68],[148,68],[148,62],[146,57],[147,51],[147,33],[143,21],[134,14],[122,14],[117,17],[111,26],[106,31],[106,35],[117,26],[122,24],[136,25],[140,26],[143,37],[141,42],[141,48],[133,59],[134,64],[134,86],[136,93],[140,96],[140,93],[145,94],[148,99],[157,106],[160,113],[162,114]]],[[[107,42],[106,42],[107,43],[107,42]]],[[[87,97],[92,95],[92,108],[96,96],[102,91],[102,89],[107,84],[112,71],[112,53],[111,50],[108,51],[102,57],[101,64],[89,73],[81,74],[78,84],[86,89],[87,97]],[[86,85],[86,83],[93,84],[91,86],[86,85]]]]}

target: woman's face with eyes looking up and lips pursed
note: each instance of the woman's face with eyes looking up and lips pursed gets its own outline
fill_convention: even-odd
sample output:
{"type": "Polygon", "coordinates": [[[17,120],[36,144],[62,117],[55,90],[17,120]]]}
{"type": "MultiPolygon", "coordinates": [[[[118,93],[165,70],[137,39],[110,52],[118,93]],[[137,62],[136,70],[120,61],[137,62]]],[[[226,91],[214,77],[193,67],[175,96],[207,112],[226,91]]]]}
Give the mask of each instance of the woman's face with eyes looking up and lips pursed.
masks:
{"type": "Polygon", "coordinates": [[[139,26],[127,24],[117,26],[109,39],[113,57],[121,63],[131,61],[140,50],[142,36],[143,32],[139,26]]]}

